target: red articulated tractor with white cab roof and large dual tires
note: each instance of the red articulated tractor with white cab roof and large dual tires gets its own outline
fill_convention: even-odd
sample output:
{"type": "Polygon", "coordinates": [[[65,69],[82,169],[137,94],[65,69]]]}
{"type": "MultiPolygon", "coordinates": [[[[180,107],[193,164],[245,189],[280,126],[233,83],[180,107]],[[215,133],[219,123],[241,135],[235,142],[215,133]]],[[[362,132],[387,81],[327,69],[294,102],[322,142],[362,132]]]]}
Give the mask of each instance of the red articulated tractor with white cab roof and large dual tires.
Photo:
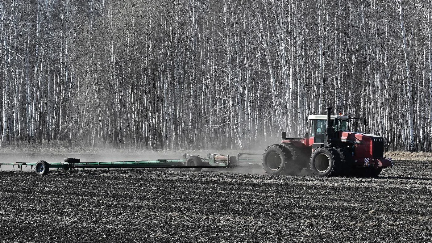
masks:
{"type": "MultiPolygon", "coordinates": [[[[264,151],[263,166],[270,175],[295,175],[309,164],[316,176],[375,177],[381,170],[393,166],[384,157],[382,137],[347,131],[348,116],[309,115],[311,133],[303,138],[287,138],[282,133],[281,144],[264,151]]],[[[365,119],[364,119],[365,121],[365,119]]]]}

